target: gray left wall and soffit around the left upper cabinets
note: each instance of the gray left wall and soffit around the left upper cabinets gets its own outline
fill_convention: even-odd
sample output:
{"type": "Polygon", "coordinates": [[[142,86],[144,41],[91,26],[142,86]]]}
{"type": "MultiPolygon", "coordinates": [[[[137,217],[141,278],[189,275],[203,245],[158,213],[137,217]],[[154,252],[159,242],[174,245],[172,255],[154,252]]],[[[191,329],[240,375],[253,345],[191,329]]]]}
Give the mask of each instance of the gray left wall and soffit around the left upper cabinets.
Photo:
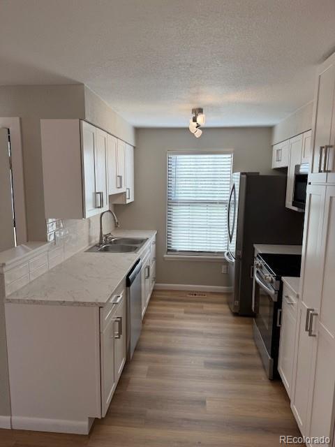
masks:
{"type": "Polygon", "coordinates": [[[135,144],[131,124],[84,85],[0,87],[0,116],[20,117],[28,240],[45,240],[41,118],[82,118],[135,144]]]}

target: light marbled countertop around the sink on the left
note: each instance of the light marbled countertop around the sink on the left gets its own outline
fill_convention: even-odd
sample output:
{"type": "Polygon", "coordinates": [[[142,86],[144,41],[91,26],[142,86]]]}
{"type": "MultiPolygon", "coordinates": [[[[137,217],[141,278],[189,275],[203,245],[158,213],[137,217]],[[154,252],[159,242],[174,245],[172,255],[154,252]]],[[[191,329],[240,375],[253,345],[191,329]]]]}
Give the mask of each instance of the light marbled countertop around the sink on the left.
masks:
{"type": "Polygon", "coordinates": [[[5,302],[45,305],[104,306],[156,230],[114,230],[113,235],[147,237],[137,253],[80,253],[8,295],[5,302]]]}

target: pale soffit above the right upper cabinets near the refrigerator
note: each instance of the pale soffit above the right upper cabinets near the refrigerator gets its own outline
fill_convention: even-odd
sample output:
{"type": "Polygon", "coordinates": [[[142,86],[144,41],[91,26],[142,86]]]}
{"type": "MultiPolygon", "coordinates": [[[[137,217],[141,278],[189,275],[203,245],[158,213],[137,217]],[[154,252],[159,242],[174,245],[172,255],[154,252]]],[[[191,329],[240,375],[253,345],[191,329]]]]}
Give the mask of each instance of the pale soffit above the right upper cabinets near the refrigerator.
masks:
{"type": "Polygon", "coordinates": [[[313,101],[296,110],[272,128],[272,145],[288,140],[312,127],[313,101]]]}

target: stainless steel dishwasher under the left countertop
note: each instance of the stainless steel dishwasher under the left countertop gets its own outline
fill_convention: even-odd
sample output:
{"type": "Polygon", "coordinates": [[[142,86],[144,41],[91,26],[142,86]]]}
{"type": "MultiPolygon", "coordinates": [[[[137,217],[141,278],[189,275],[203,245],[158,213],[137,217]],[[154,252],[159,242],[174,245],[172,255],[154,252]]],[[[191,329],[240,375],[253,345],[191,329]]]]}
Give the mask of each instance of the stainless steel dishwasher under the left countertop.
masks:
{"type": "Polygon", "coordinates": [[[126,278],[127,285],[127,359],[133,353],[142,330],[142,284],[140,259],[136,261],[126,278]]]}

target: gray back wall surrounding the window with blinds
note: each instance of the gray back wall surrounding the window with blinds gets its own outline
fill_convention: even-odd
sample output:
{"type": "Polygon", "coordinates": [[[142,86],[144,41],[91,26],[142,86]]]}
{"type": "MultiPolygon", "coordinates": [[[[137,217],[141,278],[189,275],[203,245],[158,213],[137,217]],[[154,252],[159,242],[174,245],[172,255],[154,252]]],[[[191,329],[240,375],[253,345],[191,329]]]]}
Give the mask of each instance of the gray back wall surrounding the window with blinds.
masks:
{"type": "Polygon", "coordinates": [[[156,282],[227,286],[222,263],[165,261],[166,153],[179,149],[234,149],[234,170],[271,171],[271,128],[204,129],[195,138],[188,129],[137,129],[135,201],[116,205],[122,228],[156,229],[156,282]]]}

